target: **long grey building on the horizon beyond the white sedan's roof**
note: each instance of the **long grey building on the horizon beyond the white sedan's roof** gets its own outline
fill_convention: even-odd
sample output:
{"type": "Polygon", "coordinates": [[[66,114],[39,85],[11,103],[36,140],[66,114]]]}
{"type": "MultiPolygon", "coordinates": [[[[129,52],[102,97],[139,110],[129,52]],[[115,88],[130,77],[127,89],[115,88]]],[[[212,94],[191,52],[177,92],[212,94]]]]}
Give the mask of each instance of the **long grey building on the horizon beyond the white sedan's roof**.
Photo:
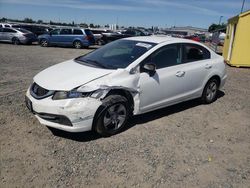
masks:
{"type": "Polygon", "coordinates": [[[190,35],[201,35],[204,34],[207,37],[209,36],[208,29],[198,28],[198,27],[171,27],[164,30],[166,34],[175,34],[175,35],[184,35],[184,36],[190,36],[190,35]]]}

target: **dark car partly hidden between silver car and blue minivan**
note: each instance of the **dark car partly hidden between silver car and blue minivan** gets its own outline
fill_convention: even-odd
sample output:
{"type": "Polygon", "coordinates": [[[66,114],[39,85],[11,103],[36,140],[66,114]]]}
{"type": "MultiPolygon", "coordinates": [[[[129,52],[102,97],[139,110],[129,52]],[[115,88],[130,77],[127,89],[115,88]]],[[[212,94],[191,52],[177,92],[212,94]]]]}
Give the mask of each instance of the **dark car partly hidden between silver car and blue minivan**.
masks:
{"type": "Polygon", "coordinates": [[[13,24],[12,27],[26,29],[34,33],[36,36],[39,36],[42,34],[48,34],[52,30],[52,28],[47,27],[47,26],[32,25],[32,24],[13,24]]]}

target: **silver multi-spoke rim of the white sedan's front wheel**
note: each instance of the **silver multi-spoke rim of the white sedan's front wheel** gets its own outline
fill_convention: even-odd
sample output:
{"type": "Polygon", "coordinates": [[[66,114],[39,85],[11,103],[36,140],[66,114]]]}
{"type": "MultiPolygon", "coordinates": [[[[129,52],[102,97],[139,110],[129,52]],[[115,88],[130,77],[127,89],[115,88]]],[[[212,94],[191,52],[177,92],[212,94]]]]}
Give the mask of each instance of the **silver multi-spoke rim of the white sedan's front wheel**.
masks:
{"type": "Polygon", "coordinates": [[[111,131],[119,129],[125,122],[126,115],[127,110],[123,104],[119,103],[110,106],[104,114],[104,127],[111,131]]]}

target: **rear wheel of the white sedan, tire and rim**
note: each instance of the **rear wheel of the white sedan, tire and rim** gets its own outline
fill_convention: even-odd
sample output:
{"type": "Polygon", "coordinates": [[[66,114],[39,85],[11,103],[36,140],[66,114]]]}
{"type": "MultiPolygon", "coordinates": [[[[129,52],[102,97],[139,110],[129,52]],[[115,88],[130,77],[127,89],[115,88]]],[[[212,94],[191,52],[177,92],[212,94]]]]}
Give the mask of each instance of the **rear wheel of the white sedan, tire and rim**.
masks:
{"type": "Polygon", "coordinates": [[[218,94],[218,88],[219,88],[219,82],[217,79],[212,78],[210,79],[202,93],[201,101],[204,104],[210,104],[217,99],[218,94]]]}

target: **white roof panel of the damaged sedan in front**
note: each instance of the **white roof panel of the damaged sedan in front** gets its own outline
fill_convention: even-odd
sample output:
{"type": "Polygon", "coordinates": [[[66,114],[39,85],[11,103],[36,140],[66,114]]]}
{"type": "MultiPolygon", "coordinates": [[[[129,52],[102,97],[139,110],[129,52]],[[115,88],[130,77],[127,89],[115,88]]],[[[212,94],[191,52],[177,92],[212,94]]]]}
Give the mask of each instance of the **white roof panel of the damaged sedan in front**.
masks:
{"type": "Polygon", "coordinates": [[[182,38],[175,38],[165,35],[151,35],[151,36],[141,36],[141,37],[129,37],[126,38],[126,40],[134,40],[134,41],[140,41],[140,42],[151,42],[160,44],[163,42],[183,42],[183,43],[194,43],[199,44],[195,41],[189,40],[189,39],[182,39],[182,38]]]}

